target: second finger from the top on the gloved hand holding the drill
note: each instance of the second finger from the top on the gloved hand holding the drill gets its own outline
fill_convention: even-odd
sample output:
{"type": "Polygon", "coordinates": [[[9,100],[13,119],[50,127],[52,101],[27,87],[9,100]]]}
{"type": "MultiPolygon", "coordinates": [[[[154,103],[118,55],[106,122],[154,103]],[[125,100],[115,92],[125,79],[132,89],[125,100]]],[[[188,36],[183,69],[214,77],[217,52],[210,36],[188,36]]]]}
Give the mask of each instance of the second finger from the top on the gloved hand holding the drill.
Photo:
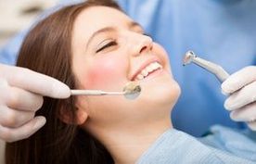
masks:
{"type": "Polygon", "coordinates": [[[229,95],[224,102],[228,110],[235,110],[256,101],[256,82],[251,82],[236,93],[229,95]]]}

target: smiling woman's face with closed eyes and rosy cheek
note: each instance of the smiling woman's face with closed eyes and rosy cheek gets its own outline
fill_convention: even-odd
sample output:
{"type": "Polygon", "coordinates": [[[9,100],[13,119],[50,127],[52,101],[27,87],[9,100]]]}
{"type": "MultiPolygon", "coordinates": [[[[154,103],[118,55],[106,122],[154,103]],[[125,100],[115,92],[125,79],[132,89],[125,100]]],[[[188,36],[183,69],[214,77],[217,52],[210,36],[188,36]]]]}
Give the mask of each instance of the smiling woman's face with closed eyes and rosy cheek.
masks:
{"type": "Polygon", "coordinates": [[[167,53],[133,19],[114,8],[93,6],[79,14],[72,34],[72,69],[79,89],[122,91],[131,81],[142,87],[135,100],[79,96],[77,106],[87,112],[89,129],[123,128],[170,117],[180,90],[167,53]]]}

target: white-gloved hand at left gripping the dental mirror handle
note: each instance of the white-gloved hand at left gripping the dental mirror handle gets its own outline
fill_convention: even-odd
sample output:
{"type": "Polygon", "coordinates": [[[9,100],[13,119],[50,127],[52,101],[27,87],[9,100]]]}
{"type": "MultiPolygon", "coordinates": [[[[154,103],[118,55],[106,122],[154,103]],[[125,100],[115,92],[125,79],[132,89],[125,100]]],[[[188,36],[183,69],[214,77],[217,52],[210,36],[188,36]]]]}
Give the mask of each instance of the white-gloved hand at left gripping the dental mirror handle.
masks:
{"type": "Polygon", "coordinates": [[[44,126],[45,117],[34,117],[44,95],[67,98],[70,88],[30,69],[0,64],[0,138],[14,142],[44,126]]]}

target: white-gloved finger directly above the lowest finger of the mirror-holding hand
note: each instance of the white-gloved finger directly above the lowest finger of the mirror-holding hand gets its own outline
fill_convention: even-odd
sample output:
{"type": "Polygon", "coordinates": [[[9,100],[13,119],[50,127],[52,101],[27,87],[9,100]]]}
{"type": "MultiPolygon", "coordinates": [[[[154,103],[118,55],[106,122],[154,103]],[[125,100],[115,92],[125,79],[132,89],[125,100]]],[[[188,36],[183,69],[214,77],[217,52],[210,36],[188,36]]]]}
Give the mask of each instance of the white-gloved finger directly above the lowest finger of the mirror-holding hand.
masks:
{"type": "Polygon", "coordinates": [[[16,110],[3,106],[0,108],[0,124],[8,128],[17,128],[34,117],[34,112],[31,111],[16,110]]]}

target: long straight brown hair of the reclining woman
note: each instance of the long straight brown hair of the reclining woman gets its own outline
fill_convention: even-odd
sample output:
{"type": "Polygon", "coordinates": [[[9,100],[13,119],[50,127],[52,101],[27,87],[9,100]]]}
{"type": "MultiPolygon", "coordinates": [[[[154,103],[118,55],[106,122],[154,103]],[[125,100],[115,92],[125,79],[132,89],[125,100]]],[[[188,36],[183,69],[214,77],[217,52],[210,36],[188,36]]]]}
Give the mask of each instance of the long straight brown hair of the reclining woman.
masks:
{"type": "MultiPolygon", "coordinates": [[[[90,6],[120,7],[111,0],[87,0],[65,6],[40,21],[26,36],[17,66],[32,69],[76,88],[71,70],[71,33],[78,14],[90,6]]],[[[88,22],[89,23],[89,22],[88,22]]],[[[36,115],[45,116],[45,126],[28,139],[6,144],[6,164],[109,164],[107,149],[75,124],[59,120],[60,109],[75,120],[75,98],[45,97],[36,115]]]]}

